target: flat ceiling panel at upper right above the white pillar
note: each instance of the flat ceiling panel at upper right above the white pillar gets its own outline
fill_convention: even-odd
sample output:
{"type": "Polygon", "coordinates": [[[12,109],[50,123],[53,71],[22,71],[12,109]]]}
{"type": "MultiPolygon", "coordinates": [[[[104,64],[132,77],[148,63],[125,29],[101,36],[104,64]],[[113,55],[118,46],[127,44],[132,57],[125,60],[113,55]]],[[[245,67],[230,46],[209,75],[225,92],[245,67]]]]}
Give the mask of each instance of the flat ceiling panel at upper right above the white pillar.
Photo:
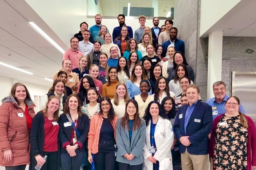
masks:
{"type": "Polygon", "coordinates": [[[202,37],[212,31],[223,31],[223,36],[256,36],[255,7],[256,0],[241,0],[202,37]]]}

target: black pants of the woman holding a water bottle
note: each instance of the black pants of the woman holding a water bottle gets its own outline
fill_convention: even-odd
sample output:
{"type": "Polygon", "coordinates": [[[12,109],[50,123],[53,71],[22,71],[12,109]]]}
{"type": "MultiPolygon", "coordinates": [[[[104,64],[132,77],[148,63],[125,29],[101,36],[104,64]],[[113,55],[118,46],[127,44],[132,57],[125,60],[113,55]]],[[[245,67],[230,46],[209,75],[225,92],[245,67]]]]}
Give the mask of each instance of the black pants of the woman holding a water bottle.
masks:
{"type": "MultiPolygon", "coordinates": [[[[58,151],[56,152],[43,152],[47,156],[46,162],[40,170],[56,170],[57,169],[57,157],[58,151]]],[[[32,167],[35,169],[35,167],[32,167]]]]}

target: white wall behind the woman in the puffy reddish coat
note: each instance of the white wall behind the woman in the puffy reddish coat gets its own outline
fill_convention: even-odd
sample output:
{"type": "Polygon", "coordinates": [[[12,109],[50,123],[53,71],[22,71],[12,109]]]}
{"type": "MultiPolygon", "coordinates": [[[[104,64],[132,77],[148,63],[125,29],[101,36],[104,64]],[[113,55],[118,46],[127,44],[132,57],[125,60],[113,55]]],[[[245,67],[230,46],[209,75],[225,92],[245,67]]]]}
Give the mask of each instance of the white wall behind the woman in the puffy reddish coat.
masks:
{"type": "Polygon", "coordinates": [[[9,95],[9,92],[10,92],[13,84],[16,83],[16,82],[23,83],[27,87],[27,89],[29,91],[29,94],[31,96],[31,99],[33,101],[35,101],[35,95],[43,96],[46,93],[48,93],[48,90],[50,88],[50,87],[40,86],[40,85],[36,85],[36,84],[33,84],[33,83],[23,82],[21,80],[10,79],[10,78],[7,78],[7,77],[2,77],[2,76],[0,76],[0,80],[1,80],[1,84],[0,84],[0,89],[1,89],[0,100],[1,101],[0,101],[0,104],[2,104],[2,99],[9,95]]]}

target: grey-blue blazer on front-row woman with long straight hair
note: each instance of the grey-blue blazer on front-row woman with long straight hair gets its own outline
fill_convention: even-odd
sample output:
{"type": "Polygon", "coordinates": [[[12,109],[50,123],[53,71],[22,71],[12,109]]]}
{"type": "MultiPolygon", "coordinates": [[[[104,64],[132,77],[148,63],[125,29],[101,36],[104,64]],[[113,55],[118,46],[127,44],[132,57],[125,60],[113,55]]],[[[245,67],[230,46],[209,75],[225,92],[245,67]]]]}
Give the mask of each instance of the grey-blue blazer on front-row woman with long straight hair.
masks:
{"type": "Polygon", "coordinates": [[[140,165],[144,161],[143,147],[146,139],[146,122],[144,119],[141,119],[139,129],[132,131],[130,144],[129,130],[127,129],[127,126],[123,129],[121,120],[122,118],[118,119],[116,122],[116,144],[118,146],[116,161],[130,165],[140,165]],[[133,154],[135,157],[131,161],[128,161],[124,157],[126,153],[133,154]]]}

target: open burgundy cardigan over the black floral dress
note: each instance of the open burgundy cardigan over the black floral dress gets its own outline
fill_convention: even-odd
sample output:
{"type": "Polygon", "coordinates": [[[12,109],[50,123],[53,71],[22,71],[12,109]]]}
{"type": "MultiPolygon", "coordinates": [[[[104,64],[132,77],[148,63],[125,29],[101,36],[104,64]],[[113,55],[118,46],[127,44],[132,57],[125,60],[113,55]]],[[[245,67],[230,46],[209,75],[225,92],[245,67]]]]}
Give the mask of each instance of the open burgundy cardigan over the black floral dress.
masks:
{"type": "MultiPolygon", "coordinates": [[[[216,138],[216,128],[220,118],[223,116],[219,115],[213,120],[211,138],[209,141],[209,155],[214,162],[214,145],[216,138]]],[[[247,170],[251,170],[252,166],[256,166],[256,127],[253,120],[244,115],[248,121],[248,145],[247,145],[247,170]]]]}

